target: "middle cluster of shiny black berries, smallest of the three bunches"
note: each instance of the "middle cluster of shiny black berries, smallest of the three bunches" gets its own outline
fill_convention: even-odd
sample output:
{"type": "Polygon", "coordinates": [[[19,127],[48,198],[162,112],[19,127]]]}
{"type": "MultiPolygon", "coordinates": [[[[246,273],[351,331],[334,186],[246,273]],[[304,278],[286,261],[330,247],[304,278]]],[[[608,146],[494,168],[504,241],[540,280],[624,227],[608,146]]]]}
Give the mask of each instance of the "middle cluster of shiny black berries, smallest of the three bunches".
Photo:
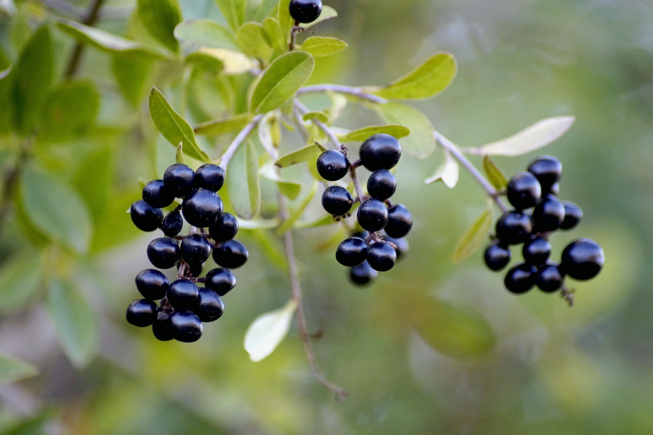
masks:
{"type": "Polygon", "coordinates": [[[357,221],[364,233],[343,240],[336,250],[338,263],[351,267],[354,283],[368,283],[377,271],[390,270],[398,255],[407,250],[403,237],[413,227],[413,217],[406,206],[389,201],[397,187],[389,169],[397,164],[401,153],[396,138],[378,134],[363,142],[360,160],[354,163],[349,163],[347,155],[337,150],[325,151],[317,159],[317,172],[329,181],[341,180],[360,165],[372,171],[367,182],[369,195],[354,200],[340,185],[327,187],[322,195],[322,206],[336,217],[347,215],[354,202],[360,202],[357,221]],[[377,234],[381,230],[385,234],[377,234]]]}

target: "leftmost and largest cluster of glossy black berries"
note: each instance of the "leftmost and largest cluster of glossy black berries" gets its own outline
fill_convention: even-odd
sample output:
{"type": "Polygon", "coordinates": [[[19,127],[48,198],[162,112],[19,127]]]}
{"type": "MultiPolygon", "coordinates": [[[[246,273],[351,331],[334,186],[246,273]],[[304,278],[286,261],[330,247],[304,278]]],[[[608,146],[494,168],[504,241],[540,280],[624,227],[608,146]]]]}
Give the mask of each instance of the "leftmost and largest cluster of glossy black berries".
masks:
{"type": "Polygon", "coordinates": [[[238,220],[223,212],[216,193],[224,180],[225,172],[219,166],[208,164],[193,171],[176,163],[168,167],[163,180],[146,184],[143,199],[129,209],[136,227],[142,231],[161,229],[165,234],[148,245],[150,263],[161,269],[178,267],[172,282],[156,269],[139,272],[136,288],[143,298],[127,307],[127,321],[138,327],[151,325],[154,336],[161,341],[199,340],[202,322],[214,321],[223,314],[221,297],[236,285],[236,277],[229,269],[247,261],[247,249],[234,240],[238,220]],[[182,205],[164,217],[161,208],[172,205],[176,198],[183,200],[182,205]],[[184,219],[191,229],[186,236],[180,236],[184,219]],[[212,253],[221,267],[199,278],[212,253]],[[198,283],[204,283],[204,287],[198,283]]]}

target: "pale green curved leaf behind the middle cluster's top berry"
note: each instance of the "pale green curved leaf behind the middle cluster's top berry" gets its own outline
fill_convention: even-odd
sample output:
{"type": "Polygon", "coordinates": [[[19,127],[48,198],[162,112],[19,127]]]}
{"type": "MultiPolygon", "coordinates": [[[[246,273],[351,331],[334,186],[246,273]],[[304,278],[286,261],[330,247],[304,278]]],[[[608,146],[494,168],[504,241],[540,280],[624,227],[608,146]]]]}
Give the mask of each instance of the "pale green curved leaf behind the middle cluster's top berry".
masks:
{"type": "Polygon", "coordinates": [[[404,125],[410,129],[410,135],[402,140],[402,147],[409,155],[424,159],[436,149],[433,125],[420,110],[402,103],[386,103],[371,107],[387,123],[404,125]]]}

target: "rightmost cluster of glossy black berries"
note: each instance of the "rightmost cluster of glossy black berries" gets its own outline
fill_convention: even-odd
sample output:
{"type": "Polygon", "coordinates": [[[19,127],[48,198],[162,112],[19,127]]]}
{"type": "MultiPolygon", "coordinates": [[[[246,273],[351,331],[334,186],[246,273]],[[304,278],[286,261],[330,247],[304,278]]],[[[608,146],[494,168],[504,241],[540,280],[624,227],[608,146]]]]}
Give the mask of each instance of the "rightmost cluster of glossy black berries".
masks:
{"type": "Polygon", "coordinates": [[[515,207],[496,223],[496,237],[485,250],[485,263],[491,270],[502,270],[511,259],[510,245],[523,244],[524,262],[505,276],[505,288],[524,293],[534,285],[547,293],[565,289],[565,276],[576,280],[594,278],[605,262],[603,250],[594,240],[581,238],[562,251],[562,260],[550,260],[549,236],[569,230],[581,221],[581,208],[558,200],[558,180],[562,164],[556,157],[538,157],[526,172],[510,179],[506,195],[515,207]]]}

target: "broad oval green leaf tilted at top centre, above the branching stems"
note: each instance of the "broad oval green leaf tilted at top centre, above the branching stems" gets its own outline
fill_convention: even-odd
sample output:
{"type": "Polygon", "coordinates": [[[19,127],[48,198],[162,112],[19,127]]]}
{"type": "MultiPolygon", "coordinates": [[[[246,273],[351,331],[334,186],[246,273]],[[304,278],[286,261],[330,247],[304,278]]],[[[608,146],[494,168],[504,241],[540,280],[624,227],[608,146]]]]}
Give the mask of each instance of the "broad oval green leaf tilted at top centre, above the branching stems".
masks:
{"type": "Polygon", "coordinates": [[[259,80],[252,82],[249,93],[251,112],[270,112],[289,101],[304,86],[314,67],[315,59],[305,52],[293,51],[274,59],[259,80]]]}

